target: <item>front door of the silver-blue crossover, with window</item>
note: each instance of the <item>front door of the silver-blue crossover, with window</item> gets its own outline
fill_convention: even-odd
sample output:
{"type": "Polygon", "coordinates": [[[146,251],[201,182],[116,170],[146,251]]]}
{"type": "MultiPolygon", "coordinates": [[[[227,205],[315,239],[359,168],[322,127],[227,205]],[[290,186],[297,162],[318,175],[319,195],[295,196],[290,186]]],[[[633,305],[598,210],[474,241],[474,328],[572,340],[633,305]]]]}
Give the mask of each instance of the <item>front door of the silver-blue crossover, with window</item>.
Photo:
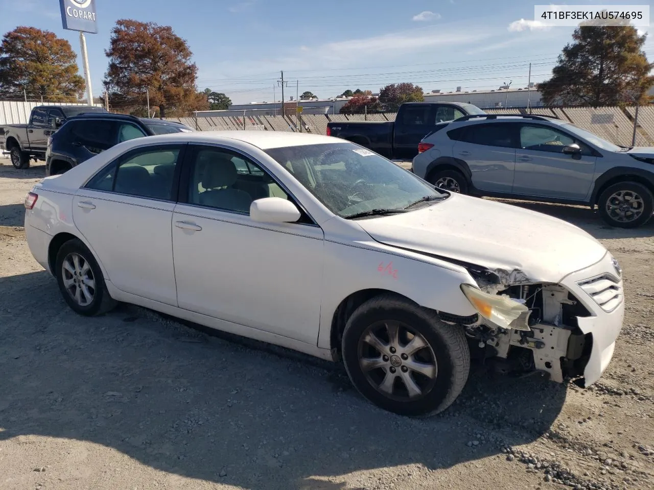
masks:
{"type": "Polygon", "coordinates": [[[513,193],[584,201],[593,184],[596,159],[588,146],[564,131],[521,124],[513,193]],[[573,143],[581,152],[564,154],[564,146],[573,143]]]}

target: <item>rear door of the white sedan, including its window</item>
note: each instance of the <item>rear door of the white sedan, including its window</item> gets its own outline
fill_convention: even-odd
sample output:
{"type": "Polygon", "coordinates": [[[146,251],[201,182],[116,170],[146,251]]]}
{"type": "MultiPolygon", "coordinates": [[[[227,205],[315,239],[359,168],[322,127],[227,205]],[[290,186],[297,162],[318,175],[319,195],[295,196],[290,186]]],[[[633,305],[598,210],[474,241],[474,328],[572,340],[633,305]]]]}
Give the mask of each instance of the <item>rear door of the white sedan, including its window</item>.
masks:
{"type": "Polygon", "coordinates": [[[121,291],[177,306],[171,221],[183,144],[142,146],[73,199],[73,220],[121,291]]]}

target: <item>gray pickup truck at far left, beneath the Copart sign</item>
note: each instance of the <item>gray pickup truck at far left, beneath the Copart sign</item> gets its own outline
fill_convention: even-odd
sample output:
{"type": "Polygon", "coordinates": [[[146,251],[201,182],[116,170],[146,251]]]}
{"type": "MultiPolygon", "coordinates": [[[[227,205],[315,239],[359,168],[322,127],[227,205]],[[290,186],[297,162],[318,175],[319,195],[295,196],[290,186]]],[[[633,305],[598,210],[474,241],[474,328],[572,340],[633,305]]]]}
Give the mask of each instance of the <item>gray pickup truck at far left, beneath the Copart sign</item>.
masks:
{"type": "Polygon", "coordinates": [[[27,124],[0,126],[0,150],[9,152],[16,169],[27,169],[29,162],[45,160],[48,137],[67,119],[84,112],[107,112],[89,105],[42,105],[32,109],[27,124]]]}

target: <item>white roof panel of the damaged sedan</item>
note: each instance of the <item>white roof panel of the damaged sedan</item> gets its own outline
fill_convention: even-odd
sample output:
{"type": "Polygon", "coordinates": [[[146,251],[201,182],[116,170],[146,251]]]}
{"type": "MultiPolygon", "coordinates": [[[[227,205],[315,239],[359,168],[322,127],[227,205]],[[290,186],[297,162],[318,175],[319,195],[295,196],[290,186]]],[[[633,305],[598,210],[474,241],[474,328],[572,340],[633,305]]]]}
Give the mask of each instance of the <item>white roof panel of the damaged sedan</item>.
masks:
{"type": "Polygon", "coordinates": [[[148,141],[172,142],[224,142],[232,139],[249,143],[262,150],[270,148],[284,148],[286,146],[305,146],[310,144],[347,143],[340,138],[311,133],[287,133],[286,131],[196,131],[195,133],[174,133],[148,137],[148,141]]]}

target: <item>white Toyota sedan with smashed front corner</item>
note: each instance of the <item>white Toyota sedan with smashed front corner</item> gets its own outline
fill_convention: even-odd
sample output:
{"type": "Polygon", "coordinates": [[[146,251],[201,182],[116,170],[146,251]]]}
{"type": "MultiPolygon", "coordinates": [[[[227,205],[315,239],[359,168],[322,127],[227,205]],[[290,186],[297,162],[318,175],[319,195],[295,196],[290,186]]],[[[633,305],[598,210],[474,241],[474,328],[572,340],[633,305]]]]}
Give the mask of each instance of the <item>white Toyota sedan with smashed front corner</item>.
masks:
{"type": "Polygon", "coordinates": [[[29,248],[78,314],[129,302],[342,360],[407,416],[456,399],[471,348],[591,384],[623,321],[619,265],[581,229],[331,137],[131,140],[25,205],[29,248]]]}

